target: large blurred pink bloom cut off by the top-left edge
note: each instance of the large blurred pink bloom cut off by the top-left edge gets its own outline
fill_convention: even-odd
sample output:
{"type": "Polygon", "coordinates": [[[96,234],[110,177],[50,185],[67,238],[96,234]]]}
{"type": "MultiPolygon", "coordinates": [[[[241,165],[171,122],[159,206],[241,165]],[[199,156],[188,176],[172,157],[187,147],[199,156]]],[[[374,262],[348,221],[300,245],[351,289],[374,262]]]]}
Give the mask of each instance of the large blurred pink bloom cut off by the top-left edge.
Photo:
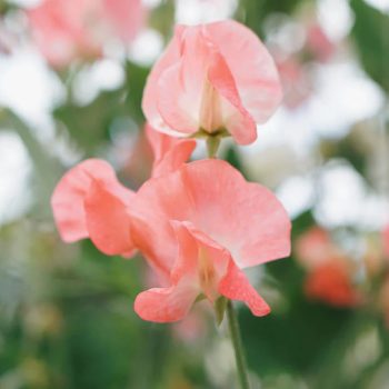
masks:
{"type": "Polygon", "coordinates": [[[143,13],[140,0],[43,0],[28,17],[43,56],[63,67],[78,57],[99,57],[109,36],[133,39],[143,13]]]}

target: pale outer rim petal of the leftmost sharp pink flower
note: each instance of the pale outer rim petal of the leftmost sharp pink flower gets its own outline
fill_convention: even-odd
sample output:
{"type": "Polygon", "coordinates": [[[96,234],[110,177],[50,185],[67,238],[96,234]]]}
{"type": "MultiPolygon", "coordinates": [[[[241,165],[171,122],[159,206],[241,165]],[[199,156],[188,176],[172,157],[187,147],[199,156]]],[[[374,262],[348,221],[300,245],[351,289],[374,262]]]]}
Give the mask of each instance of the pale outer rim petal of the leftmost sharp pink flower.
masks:
{"type": "Polygon", "coordinates": [[[77,164],[62,177],[51,198],[57,228],[67,242],[89,237],[83,203],[93,180],[104,182],[124,201],[132,196],[118,182],[113,169],[106,161],[89,159],[77,164]]]}

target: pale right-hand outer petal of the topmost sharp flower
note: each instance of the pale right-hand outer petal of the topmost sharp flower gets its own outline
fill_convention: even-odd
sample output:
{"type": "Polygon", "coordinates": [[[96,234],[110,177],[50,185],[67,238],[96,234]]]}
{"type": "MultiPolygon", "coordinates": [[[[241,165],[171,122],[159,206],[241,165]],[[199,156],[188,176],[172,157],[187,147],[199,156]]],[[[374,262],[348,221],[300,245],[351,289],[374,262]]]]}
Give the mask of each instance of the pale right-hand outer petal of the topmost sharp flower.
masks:
{"type": "Polygon", "coordinates": [[[282,99],[277,68],[266,47],[246,26],[225,20],[203,26],[205,36],[223,56],[242,106],[262,123],[282,99]]]}

